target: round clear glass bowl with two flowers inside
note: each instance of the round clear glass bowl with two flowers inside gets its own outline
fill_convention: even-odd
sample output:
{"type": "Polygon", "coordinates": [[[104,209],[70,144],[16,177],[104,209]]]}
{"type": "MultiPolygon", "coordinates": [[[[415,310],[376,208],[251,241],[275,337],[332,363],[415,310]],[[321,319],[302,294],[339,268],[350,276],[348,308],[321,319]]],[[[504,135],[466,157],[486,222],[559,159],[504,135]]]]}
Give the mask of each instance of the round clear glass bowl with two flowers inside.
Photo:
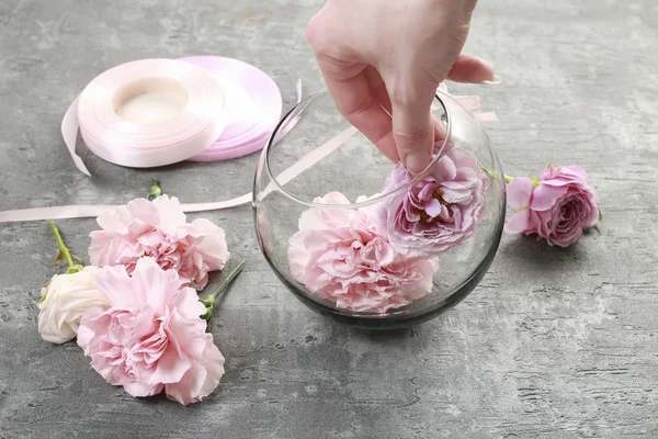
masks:
{"type": "Polygon", "coordinates": [[[436,317],[491,264],[504,181],[473,115],[438,91],[434,158],[390,162],[328,92],[296,105],[263,149],[253,212],[265,259],[311,309],[368,329],[436,317]]]}

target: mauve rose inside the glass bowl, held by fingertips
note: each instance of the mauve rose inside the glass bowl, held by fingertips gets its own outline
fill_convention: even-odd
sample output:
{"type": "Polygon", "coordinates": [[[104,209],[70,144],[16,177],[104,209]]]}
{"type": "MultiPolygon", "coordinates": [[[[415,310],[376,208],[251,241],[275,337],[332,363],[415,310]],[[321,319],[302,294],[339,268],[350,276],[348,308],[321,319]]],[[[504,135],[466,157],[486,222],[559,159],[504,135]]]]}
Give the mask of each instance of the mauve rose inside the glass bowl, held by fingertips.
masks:
{"type": "MultiPolygon", "coordinates": [[[[398,164],[384,193],[413,177],[398,164]]],[[[489,178],[469,151],[451,147],[424,179],[393,196],[379,210],[378,229],[396,251],[435,257],[473,236],[485,205],[489,178]]]]}

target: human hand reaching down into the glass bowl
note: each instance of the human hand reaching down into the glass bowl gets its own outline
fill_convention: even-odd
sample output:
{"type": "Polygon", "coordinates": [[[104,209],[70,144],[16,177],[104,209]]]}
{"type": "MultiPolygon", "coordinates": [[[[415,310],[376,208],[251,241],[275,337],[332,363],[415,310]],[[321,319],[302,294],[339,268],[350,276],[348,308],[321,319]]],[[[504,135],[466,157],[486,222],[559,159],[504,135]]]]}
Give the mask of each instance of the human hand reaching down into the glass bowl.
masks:
{"type": "Polygon", "coordinates": [[[477,0],[328,0],[307,26],[338,110],[411,172],[431,161],[430,106],[450,79],[499,81],[488,61],[462,55],[477,0]]]}

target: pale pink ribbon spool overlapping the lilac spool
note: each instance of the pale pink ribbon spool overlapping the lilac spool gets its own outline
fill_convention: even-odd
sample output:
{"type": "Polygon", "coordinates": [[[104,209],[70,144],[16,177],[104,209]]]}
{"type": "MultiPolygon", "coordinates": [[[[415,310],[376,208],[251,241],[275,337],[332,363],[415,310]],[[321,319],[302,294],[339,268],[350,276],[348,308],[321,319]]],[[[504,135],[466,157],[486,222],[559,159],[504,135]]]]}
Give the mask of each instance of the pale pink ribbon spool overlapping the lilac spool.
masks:
{"type": "Polygon", "coordinates": [[[78,128],[102,159],[133,168],[193,157],[222,135],[225,93],[205,70],[175,59],[143,59],[94,78],[71,104],[61,134],[78,169],[78,128]]]}

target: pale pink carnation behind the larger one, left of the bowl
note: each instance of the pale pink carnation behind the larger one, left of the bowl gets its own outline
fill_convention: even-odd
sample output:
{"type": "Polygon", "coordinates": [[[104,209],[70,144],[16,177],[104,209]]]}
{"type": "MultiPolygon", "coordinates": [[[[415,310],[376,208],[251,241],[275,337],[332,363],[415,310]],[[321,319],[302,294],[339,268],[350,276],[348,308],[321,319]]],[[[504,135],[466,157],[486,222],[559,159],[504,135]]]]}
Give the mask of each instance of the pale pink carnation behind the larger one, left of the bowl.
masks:
{"type": "Polygon", "coordinates": [[[229,257],[224,230],[204,218],[185,223],[177,198],[137,199],[98,223],[103,229],[90,235],[93,266],[125,266],[132,274],[139,258],[152,257],[203,290],[208,271],[223,270],[229,257]]]}

